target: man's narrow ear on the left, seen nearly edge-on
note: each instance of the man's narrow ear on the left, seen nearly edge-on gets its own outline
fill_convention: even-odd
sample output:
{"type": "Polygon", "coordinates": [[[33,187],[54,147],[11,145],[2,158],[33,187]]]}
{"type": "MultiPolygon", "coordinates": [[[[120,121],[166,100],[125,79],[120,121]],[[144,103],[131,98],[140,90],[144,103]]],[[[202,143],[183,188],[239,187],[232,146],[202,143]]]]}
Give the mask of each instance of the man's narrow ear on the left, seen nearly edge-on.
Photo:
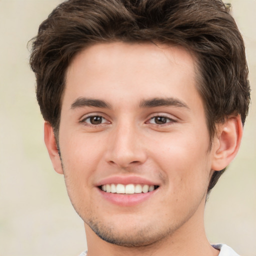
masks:
{"type": "Polygon", "coordinates": [[[44,122],[44,143],[47,147],[54,170],[57,173],[63,174],[53,128],[48,122],[44,122]]]}

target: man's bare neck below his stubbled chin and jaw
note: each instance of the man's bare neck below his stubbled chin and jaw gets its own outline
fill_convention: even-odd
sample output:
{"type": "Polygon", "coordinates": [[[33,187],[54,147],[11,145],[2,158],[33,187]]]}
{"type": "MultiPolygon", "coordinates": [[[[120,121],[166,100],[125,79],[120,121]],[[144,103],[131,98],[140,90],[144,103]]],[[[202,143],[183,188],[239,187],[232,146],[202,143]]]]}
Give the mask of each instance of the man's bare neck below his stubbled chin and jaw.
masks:
{"type": "Polygon", "coordinates": [[[149,245],[124,247],[99,238],[85,224],[88,256],[217,256],[219,251],[208,242],[203,223],[204,204],[179,229],[149,245]]]}

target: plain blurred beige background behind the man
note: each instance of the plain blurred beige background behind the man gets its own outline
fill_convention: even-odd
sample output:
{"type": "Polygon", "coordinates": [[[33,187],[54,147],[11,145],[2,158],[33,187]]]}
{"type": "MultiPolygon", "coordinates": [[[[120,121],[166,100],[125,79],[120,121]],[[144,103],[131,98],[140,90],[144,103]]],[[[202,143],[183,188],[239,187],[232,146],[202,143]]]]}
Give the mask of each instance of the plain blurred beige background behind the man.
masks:
{"type": "MultiPolygon", "coordinates": [[[[27,41],[60,0],[0,0],[0,255],[77,255],[80,218],[43,144],[27,41]]],[[[252,105],[240,151],[206,204],[210,242],[256,256],[256,0],[231,0],[250,69],[252,105]]]]}

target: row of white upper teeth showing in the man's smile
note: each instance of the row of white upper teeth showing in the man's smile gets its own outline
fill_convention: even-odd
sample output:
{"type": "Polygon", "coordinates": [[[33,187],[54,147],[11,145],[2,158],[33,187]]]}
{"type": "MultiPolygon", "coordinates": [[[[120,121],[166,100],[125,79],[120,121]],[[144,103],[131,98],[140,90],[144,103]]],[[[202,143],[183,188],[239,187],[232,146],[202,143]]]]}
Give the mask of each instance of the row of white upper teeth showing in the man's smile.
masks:
{"type": "Polygon", "coordinates": [[[117,194],[134,194],[134,193],[147,193],[155,189],[154,185],[147,184],[104,184],[101,185],[101,190],[107,193],[117,193],[117,194]]]}

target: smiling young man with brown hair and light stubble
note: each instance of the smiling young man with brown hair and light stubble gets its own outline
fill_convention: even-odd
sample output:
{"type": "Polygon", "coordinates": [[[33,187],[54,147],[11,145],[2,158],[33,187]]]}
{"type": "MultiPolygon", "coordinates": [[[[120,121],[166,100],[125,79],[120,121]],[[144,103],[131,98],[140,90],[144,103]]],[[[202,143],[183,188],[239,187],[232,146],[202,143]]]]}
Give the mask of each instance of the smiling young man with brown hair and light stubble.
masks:
{"type": "Polygon", "coordinates": [[[237,255],[203,224],[249,104],[221,1],[68,0],[40,25],[30,64],[83,255],[237,255]]]}

